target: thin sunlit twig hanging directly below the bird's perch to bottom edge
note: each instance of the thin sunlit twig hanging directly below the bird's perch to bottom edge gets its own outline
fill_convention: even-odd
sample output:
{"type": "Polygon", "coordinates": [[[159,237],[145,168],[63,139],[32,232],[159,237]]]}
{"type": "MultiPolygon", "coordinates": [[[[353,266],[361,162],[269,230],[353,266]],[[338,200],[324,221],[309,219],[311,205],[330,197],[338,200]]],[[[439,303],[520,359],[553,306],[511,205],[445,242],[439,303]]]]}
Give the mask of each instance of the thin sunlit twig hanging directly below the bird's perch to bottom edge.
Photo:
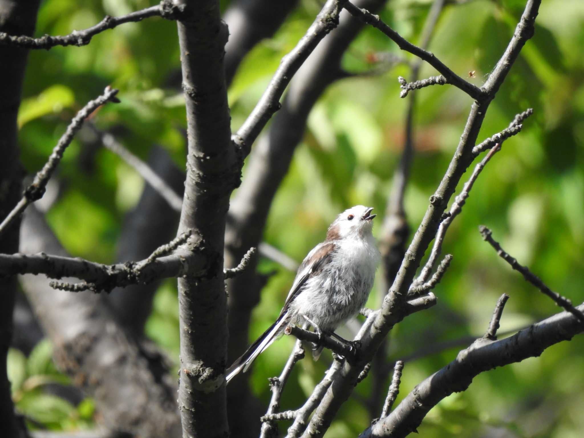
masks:
{"type": "Polygon", "coordinates": [[[294,345],[290,357],[282,370],[280,377],[274,377],[270,379],[270,389],[272,390],[272,399],[270,399],[270,405],[267,408],[266,415],[260,418],[262,422],[262,431],[260,432],[260,438],[267,438],[277,434],[277,425],[274,421],[277,420],[293,420],[296,416],[294,411],[277,412],[280,409],[280,398],[282,396],[282,391],[284,390],[284,385],[290,377],[290,373],[296,365],[298,360],[304,359],[304,349],[302,347],[302,341],[298,339],[294,345]]]}

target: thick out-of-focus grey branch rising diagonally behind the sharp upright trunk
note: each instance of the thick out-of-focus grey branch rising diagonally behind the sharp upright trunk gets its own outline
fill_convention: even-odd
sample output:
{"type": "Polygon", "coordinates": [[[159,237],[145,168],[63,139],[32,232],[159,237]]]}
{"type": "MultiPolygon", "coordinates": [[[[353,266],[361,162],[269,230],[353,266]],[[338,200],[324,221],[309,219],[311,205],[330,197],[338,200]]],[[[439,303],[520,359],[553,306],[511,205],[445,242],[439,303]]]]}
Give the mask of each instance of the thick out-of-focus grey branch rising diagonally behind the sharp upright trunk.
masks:
{"type": "MultiPolygon", "coordinates": [[[[385,0],[358,2],[377,10],[385,0]]],[[[303,138],[308,114],[326,87],[340,78],[338,72],[343,54],[363,26],[347,11],[340,11],[338,27],[318,44],[298,68],[288,85],[281,110],[270,122],[269,131],[253,146],[246,164],[245,178],[230,203],[225,232],[226,267],[237,266],[250,246],[257,246],[262,255],[270,258],[270,254],[263,251],[265,246],[261,242],[272,200],[288,171],[294,150],[303,138]]],[[[297,267],[297,263],[294,264],[297,267]]],[[[251,312],[259,302],[263,284],[265,276],[256,272],[255,260],[251,260],[248,270],[227,283],[230,360],[241,355],[248,343],[251,312]]],[[[235,428],[232,427],[234,434],[240,429],[241,434],[249,431],[249,415],[241,409],[242,404],[252,405],[248,378],[249,373],[243,374],[241,378],[231,381],[228,387],[228,412],[230,424],[235,425],[235,428]]]]}

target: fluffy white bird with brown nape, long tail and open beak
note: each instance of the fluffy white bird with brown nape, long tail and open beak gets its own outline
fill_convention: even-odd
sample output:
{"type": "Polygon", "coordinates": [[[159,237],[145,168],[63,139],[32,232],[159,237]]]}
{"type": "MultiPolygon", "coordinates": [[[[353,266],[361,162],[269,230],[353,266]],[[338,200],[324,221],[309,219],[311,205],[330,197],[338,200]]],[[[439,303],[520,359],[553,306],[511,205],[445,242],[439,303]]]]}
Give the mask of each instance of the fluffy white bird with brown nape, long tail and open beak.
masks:
{"type": "MultiPolygon", "coordinates": [[[[328,228],[326,239],[303,260],[284,307],[272,324],[226,371],[227,383],[248,370],[290,324],[314,326],[332,333],[365,305],[380,255],[371,221],[373,208],[354,206],[339,214],[328,228]]],[[[322,347],[313,353],[315,358],[322,347]]]]}

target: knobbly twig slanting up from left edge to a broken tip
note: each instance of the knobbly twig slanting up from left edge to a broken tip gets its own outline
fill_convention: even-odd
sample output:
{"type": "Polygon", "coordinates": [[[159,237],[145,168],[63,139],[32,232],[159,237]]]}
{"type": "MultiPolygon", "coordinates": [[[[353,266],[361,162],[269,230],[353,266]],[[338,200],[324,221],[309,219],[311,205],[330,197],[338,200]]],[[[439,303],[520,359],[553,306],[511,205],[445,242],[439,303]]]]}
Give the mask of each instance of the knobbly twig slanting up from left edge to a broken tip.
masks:
{"type": "Polygon", "coordinates": [[[71,144],[77,131],[81,129],[85,119],[87,119],[91,113],[93,113],[96,109],[98,109],[98,107],[102,106],[106,102],[119,103],[120,100],[116,98],[117,92],[118,90],[110,88],[109,85],[106,86],[106,89],[103,91],[102,95],[98,96],[98,98],[94,100],[90,100],[77,113],[73,120],[71,120],[67,130],[63,135],[61,135],[57,145],[53,148],[53,152],[51,153],[50,157],[48,157],[46,164],[36,174],[36,176],[34,176],[32,184],[26,187],[24,196],[19,201],[19,203],[16,204],[16,207],[12,209],[4,221],[2,221],[2,224],[0,224],[0,234],[6,230],[8,225],[10,225],[13,220],[19,217],[20,214],[26,210],[26,207],[43,197],[48,180],[51,178],[55,168],[57,168],[59,162],[61,161],[65,149],[69,144],[71,144]]]}

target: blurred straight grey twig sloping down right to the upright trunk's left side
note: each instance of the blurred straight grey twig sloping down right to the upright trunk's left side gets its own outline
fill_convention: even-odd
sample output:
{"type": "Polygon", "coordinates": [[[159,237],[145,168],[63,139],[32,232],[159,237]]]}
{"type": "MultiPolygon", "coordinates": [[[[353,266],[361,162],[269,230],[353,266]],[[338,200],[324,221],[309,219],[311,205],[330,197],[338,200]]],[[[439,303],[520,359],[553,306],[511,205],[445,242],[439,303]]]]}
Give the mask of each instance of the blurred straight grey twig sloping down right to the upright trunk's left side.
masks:
{"type": "Polygon", "coordinates": [[[132,152],[117,141],[116,137],[112,134],[98,130],[93,123],[88,123],[88,126],[99,136],[103,145],[107,149],[123,159],[128,166],[138,172],[140,176],[144,178],[145,182],[150,184],[152,189],[156,190],[156,192],[164,198],[173,210],[180,213],[180,210],[182,210],[182,197],[180,197],[164,179],[160,178],[160,176],[158,176],[158,174],[154,172],[146,162],[132,154],[132,152]]]}

